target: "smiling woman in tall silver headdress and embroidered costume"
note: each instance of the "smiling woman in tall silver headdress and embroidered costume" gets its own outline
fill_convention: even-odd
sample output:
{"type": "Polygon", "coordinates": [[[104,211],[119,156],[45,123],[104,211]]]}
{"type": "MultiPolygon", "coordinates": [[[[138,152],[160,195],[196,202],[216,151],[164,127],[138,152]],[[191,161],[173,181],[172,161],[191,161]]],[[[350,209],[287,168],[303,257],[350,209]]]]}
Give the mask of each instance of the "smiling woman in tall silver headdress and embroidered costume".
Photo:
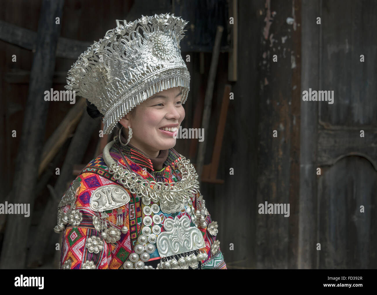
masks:
{"type": "Polygon", "coordinates": [[[117,24],[69,71],[66,88],[118,136],[59,204],[61,268],[226,269],[195,168],[173,149],[189,92],[179,49],[187,22],[160,14],[117,24]]]}

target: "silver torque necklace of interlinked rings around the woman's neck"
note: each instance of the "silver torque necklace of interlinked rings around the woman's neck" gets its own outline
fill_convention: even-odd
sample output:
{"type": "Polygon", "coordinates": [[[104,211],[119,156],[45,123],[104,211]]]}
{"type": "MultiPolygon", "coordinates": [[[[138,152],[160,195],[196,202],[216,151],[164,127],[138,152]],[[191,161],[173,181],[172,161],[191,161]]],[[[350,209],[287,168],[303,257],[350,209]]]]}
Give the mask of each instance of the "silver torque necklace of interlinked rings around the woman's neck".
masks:
{"type": "Polygon", "coordinates": [[[144,203],[161,202],[162,204],[176,204],[188,201],[193,194],[198,193],[199,182],[195,167],[181,154],[176,159],[178,169],[183,178],[178,182],[155,182],[146,180],[133,171],[124,169],[110,156],[110,148],[115,141],[109,142],[103,149],[103,159],[109,167],[109,173],[131,193],[143,198],[144,203]],[[153,185],[153,188],[150,186],[153,185]]]}

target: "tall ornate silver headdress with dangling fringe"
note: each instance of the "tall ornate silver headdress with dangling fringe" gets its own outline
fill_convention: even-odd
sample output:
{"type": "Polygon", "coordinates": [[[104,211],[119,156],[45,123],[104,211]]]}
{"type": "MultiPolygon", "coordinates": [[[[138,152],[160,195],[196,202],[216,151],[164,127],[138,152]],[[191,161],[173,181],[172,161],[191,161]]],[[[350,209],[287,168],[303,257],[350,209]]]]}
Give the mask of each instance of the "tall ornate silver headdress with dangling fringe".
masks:
{"type": "Polygon", "coordinates": [[[81,53],[65,86],[104,115],[105,134],[155,93],[180,86],[184,104],[190,90],[190,73],[179,46],[188,22],[173,14],[155,14],[116,23],[115,29],[81,53]]]}

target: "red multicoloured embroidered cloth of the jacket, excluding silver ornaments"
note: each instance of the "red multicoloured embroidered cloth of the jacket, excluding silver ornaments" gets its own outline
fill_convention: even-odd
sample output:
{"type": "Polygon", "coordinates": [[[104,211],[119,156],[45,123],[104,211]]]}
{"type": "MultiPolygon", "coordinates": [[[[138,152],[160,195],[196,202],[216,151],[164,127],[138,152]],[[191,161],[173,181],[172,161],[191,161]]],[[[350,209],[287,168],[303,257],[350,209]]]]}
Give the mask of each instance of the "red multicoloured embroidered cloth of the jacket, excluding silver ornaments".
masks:
{"type": "MultiPolygon", "coordinates": [[[[169,155],[167,157],[167,160],[164,162],[164,168],[161,171],[152,171],[150,169],[144,168],[145,166],[143,165],[140,166],[136,164],[136,162],[145,163],[144,156],[139,160],[135,159],[135,157],[138,157],[138,154],[140,153],[136,152],[128,146],[123,147],[117,144],[114,144],[110,150],[110,155],[114,160],[118,161],[118,163],[123,165],[125,168],[137,173],[144,179],[151,179],[155,180],[156,182],[166,181],[169,183],[182,179],[181,173],[178,170],[178,166],[174,162],[174,160],[179,157],[179,153],[177,153],[173,148],[169,149],[169,155]],[[131,154],[133,160],[130,160],[131,154]],[[174,165],[172,164],[172,162],[174,162],[174,165]]],[[[144,217],[144,204],[141,202],[141,198],[136,197],[136,194],[131,194],[130,191],[125,188],[127,193],[129,193],[129,195],[131,196],[131,200],[126,205],[121,206],[120,209],[122,209],[122,215],[124,216],[123,225],[127,226],[129,231],[126,234],[121,233],[120,240],[118,240],[114,244],[107,243],[101,238],[101,240],[103,241],[102,251],[97,254],[90,253],[86,248],[87,239],[92,236],[101,237],[101,233],[97,231],[95,229],[95,226],[93,225],[93,217],[97,216],[98,218],[100,218],[101,216],[99,212],[95,212],[90,208],[90,196],[92,195],[92,192],[100,186],[110,184],[121,185],[121,183],[119,183],[112,177],[110,173],[108,173],[108,167],[103,160],[102,154],[90,161],[74,181],[80,182],[80,189],[77,193],[75,205],[76,209],[82,213],[83,220],[80,222],[80,225],[68,225],[63,231],[60,261],[61,267],[63,267],[64,262],[66,262],[67,264],[67,261],[70,260],[72,261],[70,263],[71,269],[81,269],[83,264],[89,260],[93,261],[96,269],[123,268],[123,263],[133,252],[133,248],[137,244],[137,239],[141,234],[141,229],[144,226],[142,222],[144,217]]],[[[73,182],[71,183],[71,185],[72,184],[73,182]]],[[[124,188],[124,186],[122,187],[124,188]]],[[[195,208],[195,200],[198,196],[199,194],[196,194],[192,198],[193,206],[195,206],[195,208]]],[[[67,211],[68,209],[69,205],[64,208],[64,211],[67,211]]],[[[108,210],[106,211],[106,213],[109,216],[107,219],[108,222],[112,223],[114,228],[120,230],[123,225],[116,225],[116,215],[117,213],[119,214],[118,208],[108,210]]],[[[182,211],[176,212],[174,214],[166,214],[162,211],[156,214],[161,217],[161,232],[164,231],[163,223],[167,218],[174,219],[176,216],[180,218],[184,215],[187,215],[190,218],[185,209],[182,209],[182,211]]],[[[210,224],[212,222],[211,216],[209,214],[206,221],[207,224],[210,224]]],[[[195,225],[192,223],[191,226],[195,225]]],[[[204,263],[203,261],[205,268],[226,269],[224,257],[220,250],[215,256],[211,255],[211,245],[216,240],[216,236],[210,235],[210,233],[207,231],[207,228],[200,229],[200,231],[203,234],[205,245],[205,248],[202,248],[201,250],[207,252],[208,254],[206,263],[204,263]]],[[[150,255],[150,260],[159,259],[160,257],[156,249],[156,251],[150,255]]]]}

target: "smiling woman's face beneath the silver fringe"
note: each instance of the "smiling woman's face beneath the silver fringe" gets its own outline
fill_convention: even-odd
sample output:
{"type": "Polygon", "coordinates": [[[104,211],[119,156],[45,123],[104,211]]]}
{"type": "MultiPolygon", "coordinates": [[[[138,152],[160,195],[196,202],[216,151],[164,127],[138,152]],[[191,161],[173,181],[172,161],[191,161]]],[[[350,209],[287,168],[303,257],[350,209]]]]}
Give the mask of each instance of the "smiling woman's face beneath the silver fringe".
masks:
{"type": "Polygon", "coordinates": [[[126,115],[119,122],[127,130],[127,126],[132,128],[130,144],[139,148],[146,156],[157,157],[160,150],[175,146],[176,133],[184,118],[180,87],[173,87],[160,91],[137,105],[132,118],[126,115]],[[159,129],[166,126],[177,129],[175,133],[159,129]]]}

